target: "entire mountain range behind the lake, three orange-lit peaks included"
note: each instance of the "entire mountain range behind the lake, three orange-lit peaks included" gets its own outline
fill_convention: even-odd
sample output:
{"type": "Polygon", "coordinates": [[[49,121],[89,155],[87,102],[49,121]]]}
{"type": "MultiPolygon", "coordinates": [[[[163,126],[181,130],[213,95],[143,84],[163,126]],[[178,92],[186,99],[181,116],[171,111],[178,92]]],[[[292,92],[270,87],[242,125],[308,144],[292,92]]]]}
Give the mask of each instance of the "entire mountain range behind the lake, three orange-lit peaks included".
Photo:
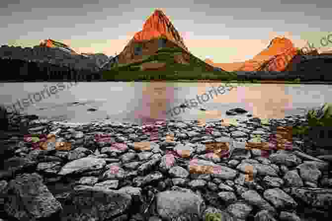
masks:
{"type": "Polygon", "coordinates": [[[197,72],[291,72],[331,70],[332,51],[303,54],[290,39],[275,37],[252,59],[237,63],[202,61],[190,53],[183,38],[162,10],[156,9],[115,57],[102,53],[77,53],[69,45],[52,39],[33,48],[2,45],[0,58],[21,59],[98,71],[197,71],[197,72]]]}

